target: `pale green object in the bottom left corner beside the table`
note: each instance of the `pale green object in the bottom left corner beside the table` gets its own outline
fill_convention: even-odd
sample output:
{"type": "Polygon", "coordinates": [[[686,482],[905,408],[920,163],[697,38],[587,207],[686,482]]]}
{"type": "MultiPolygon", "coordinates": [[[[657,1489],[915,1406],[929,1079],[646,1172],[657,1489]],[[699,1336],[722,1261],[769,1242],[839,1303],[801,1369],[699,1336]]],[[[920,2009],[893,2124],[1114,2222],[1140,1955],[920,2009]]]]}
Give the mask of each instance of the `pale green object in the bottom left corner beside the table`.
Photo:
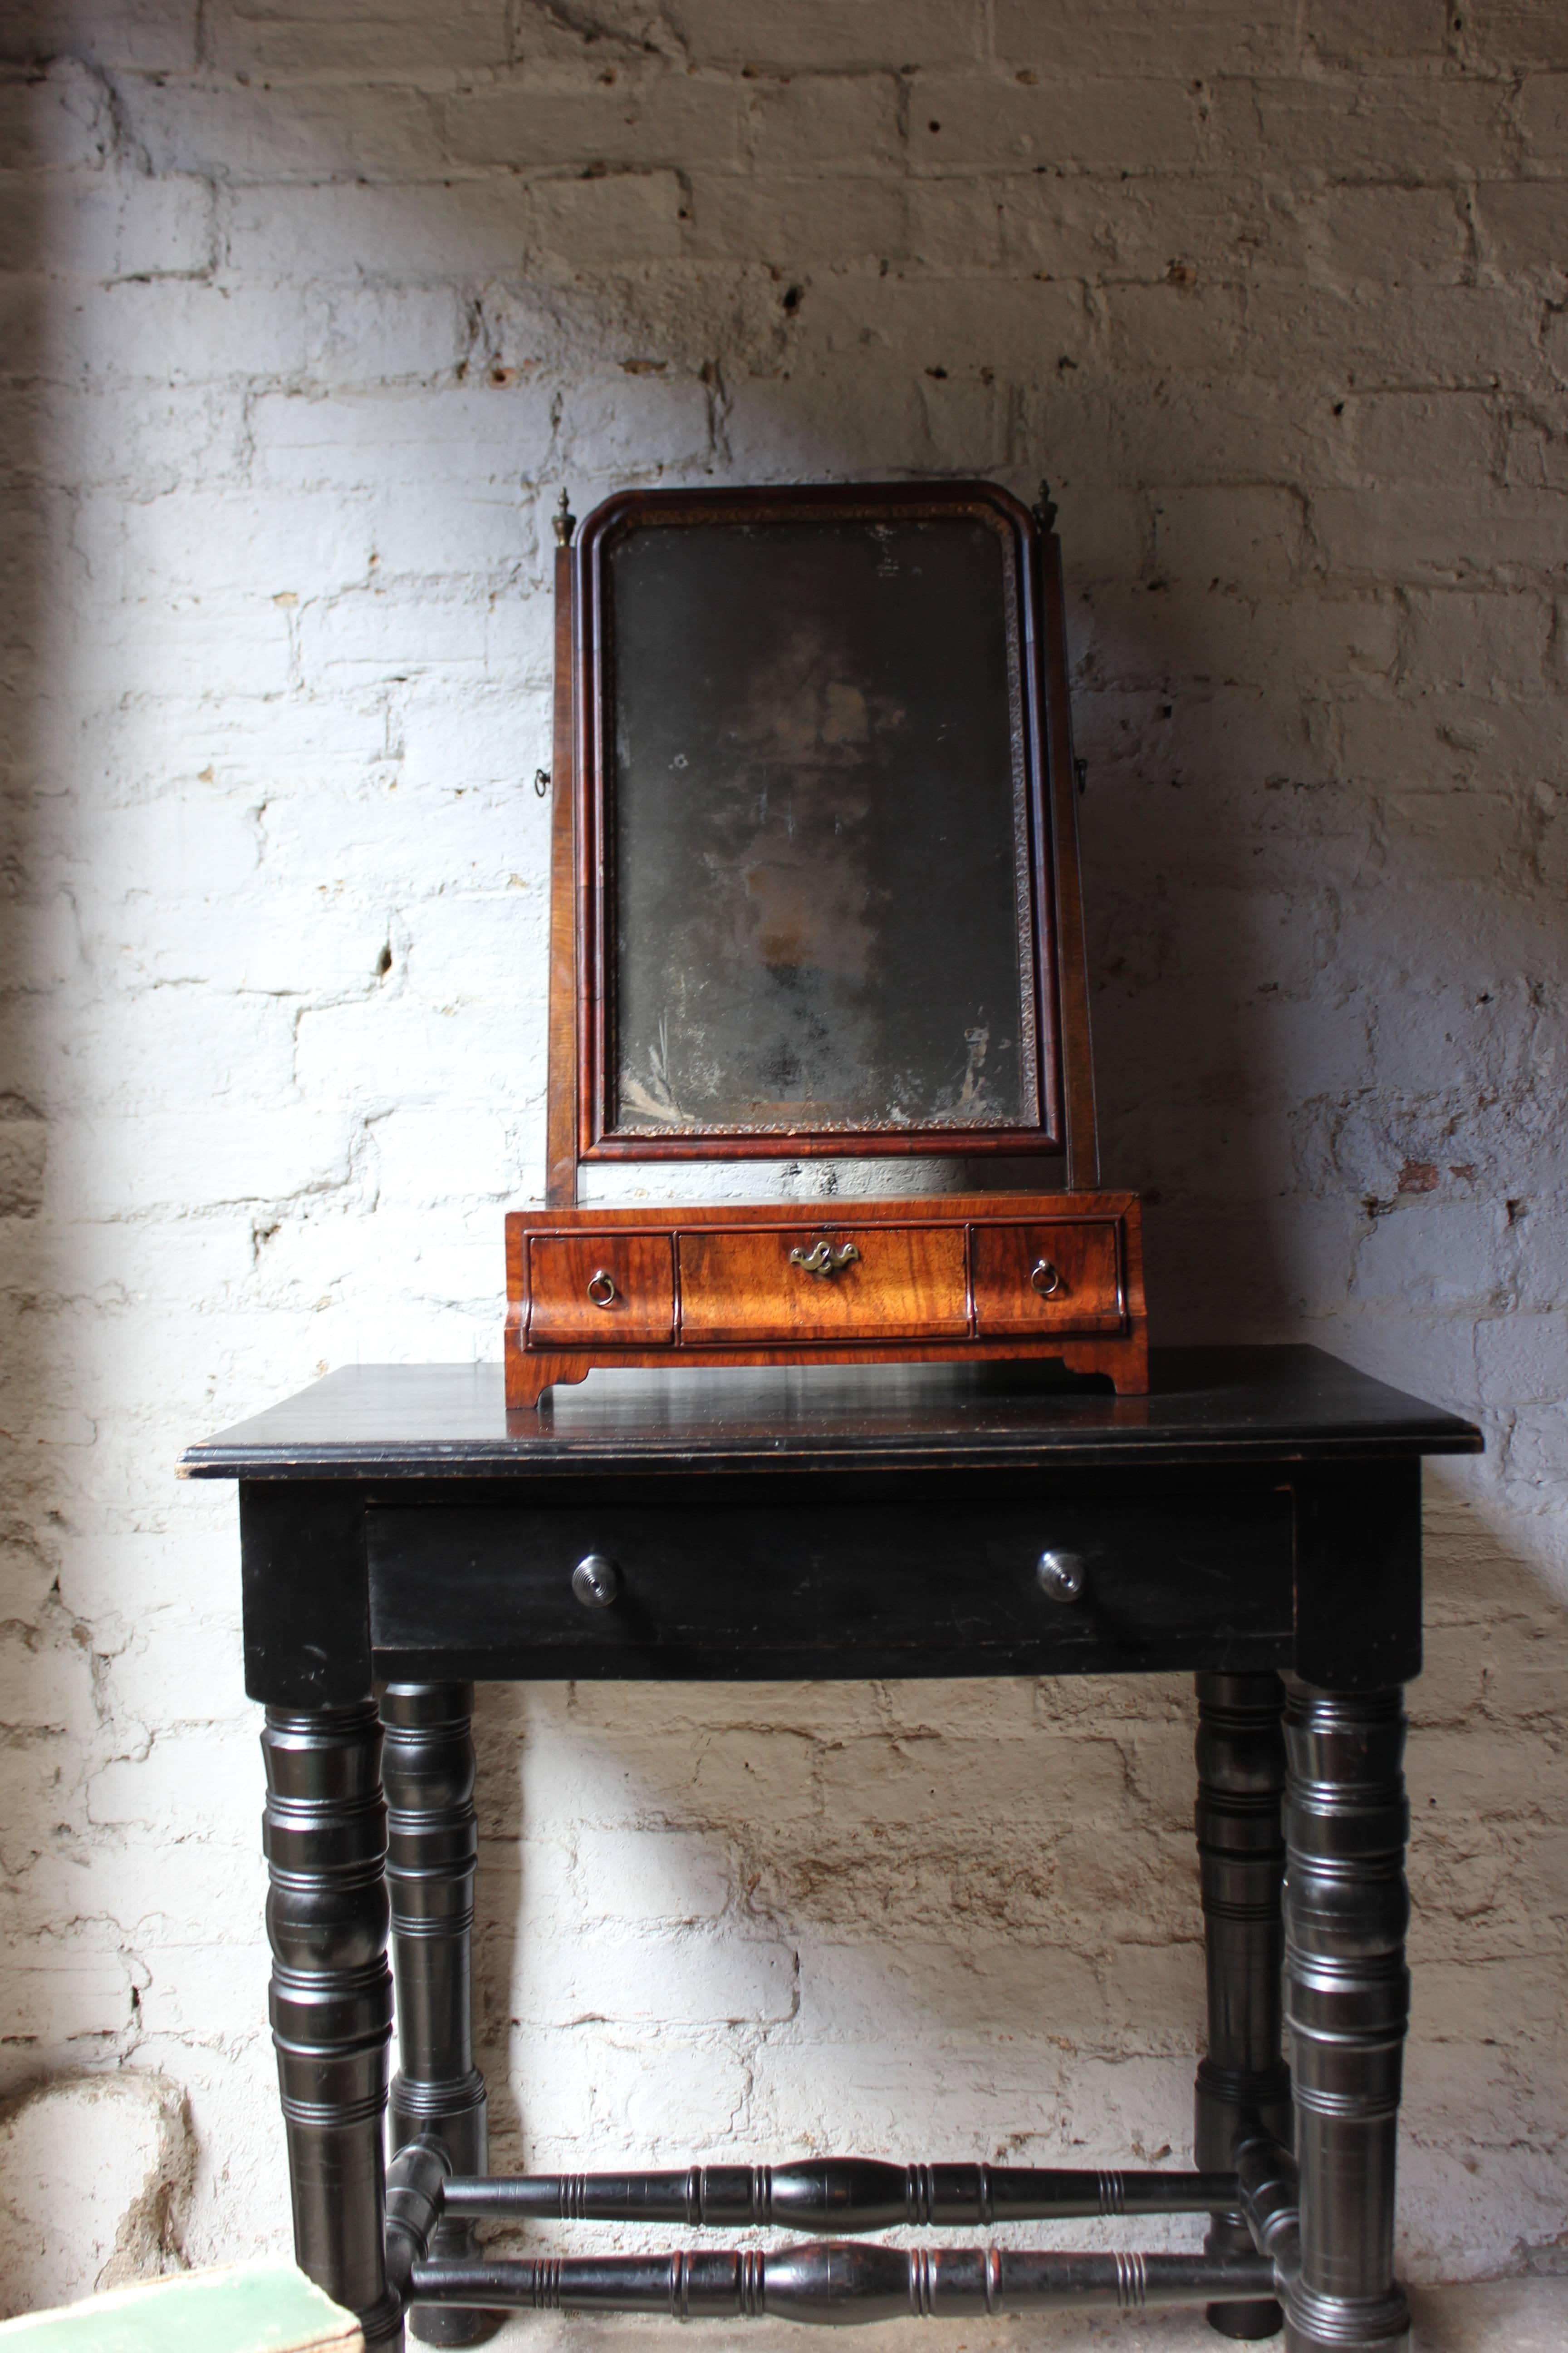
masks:
{"type": "Polygon", "coordinates": [[[226,2264],[0,2320],[2,2353],[364,2353],[360,2322],[294,2264],[226,2264]]]}

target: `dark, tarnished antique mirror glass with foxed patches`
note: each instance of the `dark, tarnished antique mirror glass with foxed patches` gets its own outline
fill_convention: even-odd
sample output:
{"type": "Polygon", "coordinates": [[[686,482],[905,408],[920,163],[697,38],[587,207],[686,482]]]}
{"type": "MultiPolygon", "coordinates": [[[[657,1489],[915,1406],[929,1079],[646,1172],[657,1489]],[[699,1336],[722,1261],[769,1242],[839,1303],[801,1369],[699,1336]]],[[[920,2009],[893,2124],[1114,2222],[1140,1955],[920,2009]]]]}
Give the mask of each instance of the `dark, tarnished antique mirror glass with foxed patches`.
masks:
{"type": "Polygon", "coordinates": [[[604,553],[609,1132],[1037,1125],[1004,527],[632,518],[604,553]]]}

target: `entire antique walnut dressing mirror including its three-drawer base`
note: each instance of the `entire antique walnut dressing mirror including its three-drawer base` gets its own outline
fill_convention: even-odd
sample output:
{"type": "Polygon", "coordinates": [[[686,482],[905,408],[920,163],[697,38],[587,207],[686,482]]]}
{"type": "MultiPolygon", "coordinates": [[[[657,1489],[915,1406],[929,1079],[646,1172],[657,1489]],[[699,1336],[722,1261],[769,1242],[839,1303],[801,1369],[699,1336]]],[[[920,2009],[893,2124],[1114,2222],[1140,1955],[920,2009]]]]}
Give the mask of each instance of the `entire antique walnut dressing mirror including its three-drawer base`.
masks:
{"type": "MultiPolygon", "coordinates": [[[[1147,1391],[1100,1193],[1053,508],[623,492],[555,558],[545,1205],[505,1400],[595,1367],[1056,1358],[1147,1391]],[[1023,1155],[1039,1191],[578,1207],[583,1165],[1023,1155]]],[[[961,1179],[959,1179],[961,1181],[961,1179]]]]}

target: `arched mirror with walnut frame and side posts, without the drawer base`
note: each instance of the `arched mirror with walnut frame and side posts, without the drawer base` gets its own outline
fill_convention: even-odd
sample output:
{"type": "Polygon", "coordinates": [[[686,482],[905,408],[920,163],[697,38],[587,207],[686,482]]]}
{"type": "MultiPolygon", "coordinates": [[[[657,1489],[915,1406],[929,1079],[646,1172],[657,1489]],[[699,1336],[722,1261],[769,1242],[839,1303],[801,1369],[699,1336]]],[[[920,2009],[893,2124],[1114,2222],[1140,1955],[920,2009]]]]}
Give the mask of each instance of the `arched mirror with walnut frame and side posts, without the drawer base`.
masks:
{"type": "Polygon", "coordinates": [[[1053,536],[990,482],[623,492],[562,558],[550,1198],[825,1153],[1093,1186],[1053,536]]]}

